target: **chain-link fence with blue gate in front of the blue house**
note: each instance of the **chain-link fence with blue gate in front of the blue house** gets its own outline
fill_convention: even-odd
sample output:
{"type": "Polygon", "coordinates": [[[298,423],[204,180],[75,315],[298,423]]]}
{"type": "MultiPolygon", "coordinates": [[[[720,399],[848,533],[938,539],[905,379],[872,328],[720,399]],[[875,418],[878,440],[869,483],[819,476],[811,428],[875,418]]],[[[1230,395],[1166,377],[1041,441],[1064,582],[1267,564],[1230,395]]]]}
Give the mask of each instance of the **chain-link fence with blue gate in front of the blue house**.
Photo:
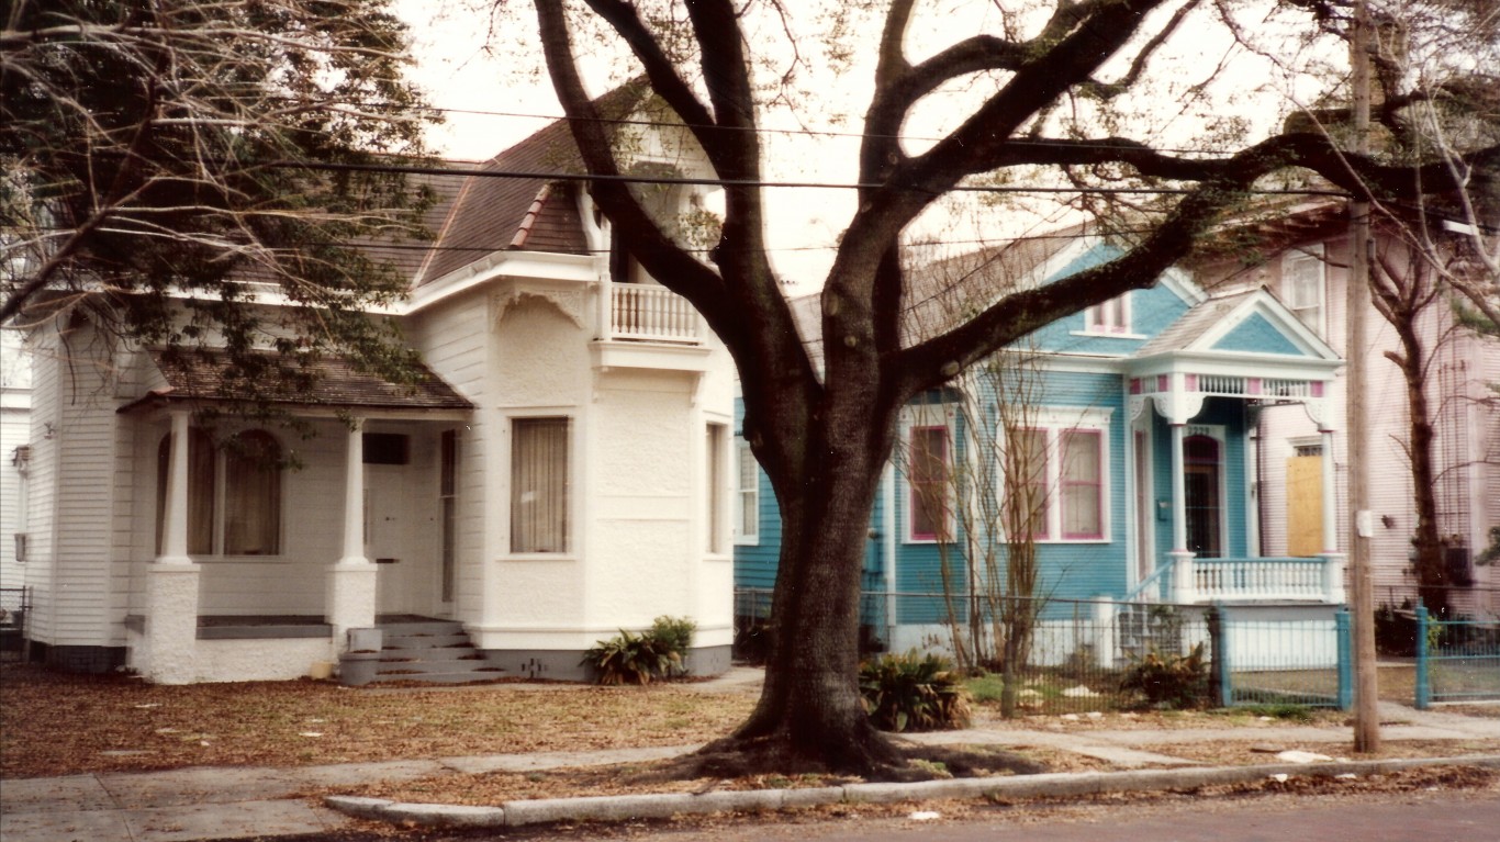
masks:
{"type": "MultiPolygon", "coordinates": [[[[764,657],[770,612],[771,591],[735,591],[741,657],[764,657]]],[[[1168,684],[1188,686],[1196,702],[1214,705],[1352,701],[1347,612],[1262,618],[1209,605],[867,591],[861,642],[867,654],[945,654],[980,672],[970,681],[978,701],[1010,695],[1017,713],[1167,704],[1168,684]],[[1008,647],[1012,633],[1023,639],[1008,647]]]]}

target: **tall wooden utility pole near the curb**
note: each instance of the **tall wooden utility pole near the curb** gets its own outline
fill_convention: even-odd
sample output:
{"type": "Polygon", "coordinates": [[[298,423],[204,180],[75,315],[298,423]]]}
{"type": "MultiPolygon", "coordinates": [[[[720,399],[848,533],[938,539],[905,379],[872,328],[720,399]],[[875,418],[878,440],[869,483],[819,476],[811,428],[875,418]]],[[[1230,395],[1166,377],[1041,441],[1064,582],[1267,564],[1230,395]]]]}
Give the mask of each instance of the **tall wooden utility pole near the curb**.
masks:
{"type": "MultiPolygon", "coordinates": [[[[1370,12],[1365,0],[1354,2],[1354,30],[1350,38],[1348,60],[1354,98],[1354,152],[1370,155],[1370,12]]],[[[1370,537],[1374,531],[1370,513],[1370,422],[1365,413],[1366,347],[1365,314],[1370,309],[1370,201],[1356,195],[1348,206],[1352,261],[1347,284],[1347,335],[1344,342],[1346,401],[1348,428],[1348,570],[1350,612],[1354,615],[1354,752],[1380,750],[1380,713],[1376,681],[1376,611],[1374,584],[1370,578],[1370,537]]]]}

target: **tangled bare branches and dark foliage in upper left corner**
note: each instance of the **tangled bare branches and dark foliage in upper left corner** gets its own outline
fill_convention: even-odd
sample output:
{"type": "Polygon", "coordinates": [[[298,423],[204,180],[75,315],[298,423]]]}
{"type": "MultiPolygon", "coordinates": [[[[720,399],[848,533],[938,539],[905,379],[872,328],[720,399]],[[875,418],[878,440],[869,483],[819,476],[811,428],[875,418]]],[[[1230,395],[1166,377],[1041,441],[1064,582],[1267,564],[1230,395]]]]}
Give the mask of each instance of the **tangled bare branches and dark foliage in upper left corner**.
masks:
{"type": "Polygon", "coordinates": [[[0,26],[0,323],[400,369],[372,305],[424,192],[386,0],[15,0],[0,26]],[[276,308],[256,308],[276,303],[276,308]]]}

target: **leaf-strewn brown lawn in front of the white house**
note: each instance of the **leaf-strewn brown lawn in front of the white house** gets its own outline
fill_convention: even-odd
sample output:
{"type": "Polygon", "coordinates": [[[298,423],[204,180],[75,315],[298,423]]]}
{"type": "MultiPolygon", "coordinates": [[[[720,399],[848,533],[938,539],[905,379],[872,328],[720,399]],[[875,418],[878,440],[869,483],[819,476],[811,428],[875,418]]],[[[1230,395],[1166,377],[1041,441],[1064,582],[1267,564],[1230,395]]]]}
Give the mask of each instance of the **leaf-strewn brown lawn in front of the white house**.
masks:
{"type": "Polygon", "coordinates": [[[678,746],[722,737],[753,702],[681,684],[388,692],[303,680],[164,687],[6,665],[0,776],[678,746]]]}

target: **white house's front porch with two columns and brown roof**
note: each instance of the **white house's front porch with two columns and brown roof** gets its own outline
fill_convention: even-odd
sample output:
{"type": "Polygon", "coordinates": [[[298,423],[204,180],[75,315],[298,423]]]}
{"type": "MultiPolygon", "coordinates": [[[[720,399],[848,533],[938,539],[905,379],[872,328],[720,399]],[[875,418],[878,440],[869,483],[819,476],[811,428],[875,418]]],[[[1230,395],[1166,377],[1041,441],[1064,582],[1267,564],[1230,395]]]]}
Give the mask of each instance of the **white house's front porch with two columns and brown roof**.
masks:
{"type": "Polygon", "coordinates": [[[158,683],[296,678],[412,594],[423,609],[452,600],[440,488],[466,399],[432,375],[412,390],[333,362],[284,402],[315,437],[237,431],[232,414],[210,432],[212,363],[159,362],[168,387],[122,410],[134,494],[158,503],[134,519],[130,666],[158,683]],[[237,450],[243,440],[261,449],[237,450]]]}

